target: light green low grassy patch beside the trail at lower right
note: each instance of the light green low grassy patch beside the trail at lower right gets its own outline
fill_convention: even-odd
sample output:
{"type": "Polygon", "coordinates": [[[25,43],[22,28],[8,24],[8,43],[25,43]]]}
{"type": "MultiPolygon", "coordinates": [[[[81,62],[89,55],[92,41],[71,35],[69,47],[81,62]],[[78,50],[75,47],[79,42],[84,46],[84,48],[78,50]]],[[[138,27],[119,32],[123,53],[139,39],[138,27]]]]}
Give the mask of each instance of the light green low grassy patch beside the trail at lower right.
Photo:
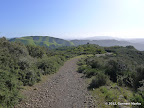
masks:
{"type": "MultiPolygon", "coordinates": [[[[88,78],[87,83],[90,84],[92,79],[93,77],[88,78]]],[[[116,102],[116,104],[118,104],[118,102],[129,103],[128,100],[133,96],[133,91],[130,88],[118,86],[113,82],[109,82],[109,85],[90,90],[90,93],[94,97],[95,104],[98,108],[118,108],[119,105],[110,105],[111,103],[109,102],[116,102]]],[[[127,107],[131,108],[131,105],[127,107]]]]}

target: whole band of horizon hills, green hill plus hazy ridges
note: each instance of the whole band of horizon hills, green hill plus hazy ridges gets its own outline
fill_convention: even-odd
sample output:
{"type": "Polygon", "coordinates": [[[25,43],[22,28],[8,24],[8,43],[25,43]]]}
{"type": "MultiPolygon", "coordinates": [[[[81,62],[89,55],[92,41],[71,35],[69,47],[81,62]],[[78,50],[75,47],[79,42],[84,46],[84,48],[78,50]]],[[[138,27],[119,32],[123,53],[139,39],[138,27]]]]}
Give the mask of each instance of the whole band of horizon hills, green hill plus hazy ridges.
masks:
{"type": "Polygon", "coordinates": [[[54,38],[50,36],[26,36],[26,37],[20,37],[20,38],[12,38],[9,39],[10,42],[21,42],[25,45],[40,45],[40,46],[46,46],[48,48],[58,48],[62,46],[78,46],[78,45],[84,45],[87,43],[90,44],[97,44],[99,46],[128,46],[132,45],[137,50],[144,51],[144,44],[141,43],[133,43],[130,41],[123,41],[123,40],[116,40],[116,39],[102,39],[102,40],[64,40],[60,38],[54,38]]]}

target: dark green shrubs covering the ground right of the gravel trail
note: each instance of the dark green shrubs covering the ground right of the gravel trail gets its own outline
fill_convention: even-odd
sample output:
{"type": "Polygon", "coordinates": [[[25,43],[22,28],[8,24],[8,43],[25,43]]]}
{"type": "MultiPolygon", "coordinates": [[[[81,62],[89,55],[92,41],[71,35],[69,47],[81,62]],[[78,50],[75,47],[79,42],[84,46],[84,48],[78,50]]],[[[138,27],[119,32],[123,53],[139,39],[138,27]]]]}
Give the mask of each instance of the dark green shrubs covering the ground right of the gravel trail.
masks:
{"type": "MultiPolygon", "coordinates": [[[[80,73],[92,78],[89,88],[99,88],[116,83],[117,86],[128,87],[133,95],[128,101],[139,102],[144,107],[144,52],[137,51],[132,46],[107,47],[109,53],[99,56],[86,57],[78,62],[80,73]]],[[[118,87],[118,88],[119,88],[118,87]]],[[[106,93],[106,101],[113,93],[106,93]],[[108,95],[108,96],[106,96],[108,95]]],[[[116,98],[114,98],[116,101],[116,98]]]]}

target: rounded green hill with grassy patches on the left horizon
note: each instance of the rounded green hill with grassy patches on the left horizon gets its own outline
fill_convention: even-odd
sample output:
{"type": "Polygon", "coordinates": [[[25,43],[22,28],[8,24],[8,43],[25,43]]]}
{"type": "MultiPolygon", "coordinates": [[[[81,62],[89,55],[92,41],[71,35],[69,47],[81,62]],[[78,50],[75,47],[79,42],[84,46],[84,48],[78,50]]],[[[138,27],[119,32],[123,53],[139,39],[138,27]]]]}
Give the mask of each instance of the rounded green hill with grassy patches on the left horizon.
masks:
{"type": "Polygon", "coordinates": [[[49,48],[57,48],[61,46],[73,46],[74,44],[70,41],[49,37],[49,36],[26,36],[21,38],[9,39],[10,42],[21,42],[25,45],[40,45],[49,48]]]}

